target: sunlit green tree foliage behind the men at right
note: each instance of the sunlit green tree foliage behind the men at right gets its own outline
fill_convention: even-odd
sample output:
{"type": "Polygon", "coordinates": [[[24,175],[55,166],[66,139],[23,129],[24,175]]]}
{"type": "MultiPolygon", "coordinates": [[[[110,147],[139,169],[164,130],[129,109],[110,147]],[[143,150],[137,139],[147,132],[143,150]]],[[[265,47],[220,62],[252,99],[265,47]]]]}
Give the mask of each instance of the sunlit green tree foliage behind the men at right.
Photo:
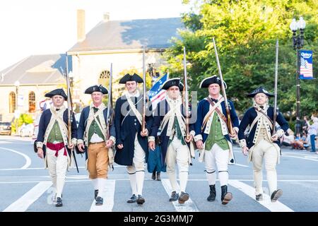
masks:
{"type": "MultiPolygon", "coordinates": [[[[191,4],[190,1],[183,1],[191,4]]],[[[199,100],[207,95],[199,90],[201,81],[218,74],[212,38],[216,40],[227,95],[240,114],[250,107],[247,93],[263,85],[273,92],[275,45],[279,40],[278,104],[281,112],[295,116],[297,54],[289,25],[293,17],[306,21],[305,46],[314,52],[314,78],[317,78],[318,5],[314,0],[201,0],[199,13],[183,15],[186,30],[165,57],[171,77],[183,76],[183,47],[187,49],[190,90],[198,90],[199,100]]],[[[317,79],[300,81],[302,115],[317,111],[317,79]]]]}

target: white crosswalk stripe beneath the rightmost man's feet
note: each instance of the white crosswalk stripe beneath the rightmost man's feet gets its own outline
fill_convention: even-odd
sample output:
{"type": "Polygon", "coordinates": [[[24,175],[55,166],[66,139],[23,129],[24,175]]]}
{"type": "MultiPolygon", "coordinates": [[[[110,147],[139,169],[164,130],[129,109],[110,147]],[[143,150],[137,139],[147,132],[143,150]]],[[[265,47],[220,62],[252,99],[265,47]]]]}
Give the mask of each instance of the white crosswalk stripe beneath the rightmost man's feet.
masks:
{"type": "MultiPolygon", "coordinates": [[[[255,200],[255,189],[252,186],[249,186],[236,179],[230,179],[228,184],[230,184],[230,186],[234,186],[236,189],[239,189],[244,194],[255,200]]],[[[266,194],[263,194],[263,201],[258,201],[258,203],[261,204],[261,206],[268,208],[271,212],[294,212],[294,210],[290,209],[288,206],[285,206],[279,201],[272,203],[271,198],[266,194]]]]}

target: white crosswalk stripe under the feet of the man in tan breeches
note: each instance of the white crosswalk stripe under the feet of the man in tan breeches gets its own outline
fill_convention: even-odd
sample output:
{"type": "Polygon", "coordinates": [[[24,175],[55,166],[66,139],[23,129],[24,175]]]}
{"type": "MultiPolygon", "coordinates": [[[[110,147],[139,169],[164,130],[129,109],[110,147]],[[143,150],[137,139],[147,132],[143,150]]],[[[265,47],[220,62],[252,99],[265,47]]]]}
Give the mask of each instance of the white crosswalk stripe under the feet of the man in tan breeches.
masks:
{"type": "Polygon", "coordinates": [[[112,212],[112,207],[114,206],[114,189],[115,189],[115,180],[107,179],[105,186],[105,196],[104,203],[102,206],[95,205],[95,199],[90,206],[90,212],[112,212]]]}

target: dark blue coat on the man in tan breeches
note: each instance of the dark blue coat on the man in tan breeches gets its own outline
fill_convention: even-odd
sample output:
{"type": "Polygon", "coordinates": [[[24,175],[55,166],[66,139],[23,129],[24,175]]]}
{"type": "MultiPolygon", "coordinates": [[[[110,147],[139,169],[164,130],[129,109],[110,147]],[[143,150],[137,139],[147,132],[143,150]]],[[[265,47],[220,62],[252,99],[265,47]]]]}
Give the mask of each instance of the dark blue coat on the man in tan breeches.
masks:
{"type": "MultiPolygon", "coordinates": [[[[107,107],[104,109],[102,113],[104,114],[105,122],[107,122],[107,107]]],[[[90,114],[90,106],[84,107],[83,111],[81,112],[80,121],[78,123],[78,129],[77,129],[78,140],[83,140],[84,138],[84,133],[86,130],[86,124],[87,124],[87,119],[89,114],[90,114]]],[[[110,114],[112,114],[112,110],[110,111],[110,114]]],[[[114,136],[114,138],[116,138],[114,123],[110,125],[110,136],[114,136]]],[[[88,143],[86,143],[85,145],[88,145],[88,143]]],[[[85,155],[87,160],[88,159],[87,146],[85,146],[85,155]]]]}

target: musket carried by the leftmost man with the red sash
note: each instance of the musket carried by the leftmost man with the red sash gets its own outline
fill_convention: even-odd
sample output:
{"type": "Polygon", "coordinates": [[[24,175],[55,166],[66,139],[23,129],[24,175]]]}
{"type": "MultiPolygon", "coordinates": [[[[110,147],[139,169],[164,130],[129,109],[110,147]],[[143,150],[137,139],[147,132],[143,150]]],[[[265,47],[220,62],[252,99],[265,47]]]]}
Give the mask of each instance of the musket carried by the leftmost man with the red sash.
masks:
{"type": "MultiPolygon", "coordinates": [[[[71,125],[71,121],[73,121],[73,103],[72,103],[72,97],[71,97],[71,85],[69,82],[69,60],[67,57],[67,52],[65,54],[66,56],[66,70],[65,70],[65,76],[66,76],[66,85],[67,85],[67,131],[68,131],[68,135],[69,135],[69,144],[72,143],[72,125],[71,125]]],[[[75,152],[74,149],[71,149],[71,153],[73,154],[74,157],[74,161],[75,161],[75,165],[76,165],[76,170],[78,171],[78,165],[76,162],[76,156],[75,156],[75,152]]]]}

